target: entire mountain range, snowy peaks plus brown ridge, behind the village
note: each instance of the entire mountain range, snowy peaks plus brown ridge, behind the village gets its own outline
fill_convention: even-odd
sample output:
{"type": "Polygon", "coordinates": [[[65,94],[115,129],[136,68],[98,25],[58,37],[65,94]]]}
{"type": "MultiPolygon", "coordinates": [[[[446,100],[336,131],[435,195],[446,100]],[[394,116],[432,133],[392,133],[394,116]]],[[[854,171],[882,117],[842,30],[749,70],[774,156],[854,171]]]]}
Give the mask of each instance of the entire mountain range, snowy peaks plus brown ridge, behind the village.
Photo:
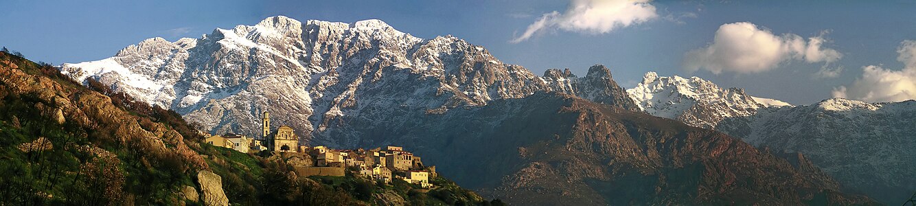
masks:
{"type": "Polygon", "coordinates": [[[839,191],[894,201],[872,189],[912,190],[916,177],[903,150],[916,141],[912,102],[792,106],[654,72],[625,91],[602,65],[537,76],[463,39],[380,20],[273,16],[60,70],[212,134],[256,134],[269,112],[305,144],[409,146],[459,184],[515,203],[867,203],[839,191]],[[893,169],[868,170],[882,167],[893,169]]]}

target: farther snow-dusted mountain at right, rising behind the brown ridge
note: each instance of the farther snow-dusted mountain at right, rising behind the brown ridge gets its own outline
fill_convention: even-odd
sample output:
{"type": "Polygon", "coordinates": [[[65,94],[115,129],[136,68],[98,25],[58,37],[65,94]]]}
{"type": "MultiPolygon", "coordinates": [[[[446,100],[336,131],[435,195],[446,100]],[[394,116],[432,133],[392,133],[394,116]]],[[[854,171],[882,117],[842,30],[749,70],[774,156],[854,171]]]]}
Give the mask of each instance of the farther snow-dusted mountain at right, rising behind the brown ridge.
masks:
{"type": "Polygon", "coordinates": [[[801,152],[847,190],[878,201],[896,203],[916,190],[916,102],[837,98],[792,106],[655,72],[627,92],[649,114],[713,128],[753,146],[801,152]]]}

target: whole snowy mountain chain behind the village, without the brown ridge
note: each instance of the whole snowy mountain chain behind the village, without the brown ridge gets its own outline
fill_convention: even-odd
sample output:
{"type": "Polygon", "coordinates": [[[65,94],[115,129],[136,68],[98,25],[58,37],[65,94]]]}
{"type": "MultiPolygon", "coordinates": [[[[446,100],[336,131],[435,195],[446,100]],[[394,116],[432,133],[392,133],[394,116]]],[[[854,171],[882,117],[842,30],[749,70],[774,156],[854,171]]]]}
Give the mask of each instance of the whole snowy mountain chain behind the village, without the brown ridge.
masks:
{"type": "MultiPolygon", "coordinates": [[[[274,126],[289,125],[312,145],[334,147],[420,141],[424,136],[398,131],[421,128],[423,120],[436,118],[429,114],[466,110],[494,100],[527,97],[535,92],[564,92],[627,110],[644,110],[687,125],[716,128],[753,140],[755,146],[796,150],[806,155],[809,152],[835,153],[829,157],[814,155],[811,159],[818,165],[826,165],[825,170],[834,175],[850,174],[846,177],[854,180],[847,179],[844,183],[856,182],[858,177],[865,177],[857,175],[870,172],[861,165],[871,166],[872,162],[878,162],[873,165],[895,167],[890,164],[900,162],[883,163],[882,157],[891,156],[880,152],[898,151],[898,147],[870,141],[874,139],[872,136],[881,136],[878,139],[882,140],[897,138],[892,140],[898,142],[889,141],[889,144],[912,147],[914,138],[911,134],[916,134],[916,131],[903,128],[912,125],[911,119],[891,123],[892,118],[884,120],[882,116],[910,115],[906,118],[911,118],[914,113],[907,112],[911,111],[905,109],[911,108],[907,106],[886,109],[892,106],[882,104],[868,110],[903,111],[900,113],[845,114],[843,111],[865,111],[859,108],[871,107],[836,101],[817,107],[824,108],[816,110],[821,112],[800,112],[797,118],[786,117],[790,115],[779,114],[779,111],[815,106],[793,107],[747,95],[741,89],[721,89],[700,78],[659,77],[654,72],[647,73],[636,88],[624,91],[604,66],[593,66],[585,77],[576,77],[568,70],[547,70],[539,77],[518,65],[502,63],[485,48],[463,39],[452,36],[416,38],[380,20],[348,24],[318,20],[300,22],[273,16],[255,26],[217,28],[202,38],[181,38],[175,42],[149,38],[122,49],[112,58],[64,64],[60,69],[77,81],[93,78],[115,91],[173,109],[211,133],[257,134],[261,114],[270,112],[271,121],[276,123],[274,126]],[[875,122],[884,125],[868,125],[868,118],[881,119],[875,122]],[[780,122],[804,119],[818,124],[811,126],[838,128],[835,129],[838,132],[859,130],[848,131],[857,136],[833,133],[827,131],[829,129],[811,133],[808,130],[819,127],[780,122]],[[719,126],[721,124],[727,127],[719,126]],[[790,133],[792,131],[794,133],[790,133]],[[801,139],[802,136],[823,138],[825,144],[836,144],[803,146],[807,140],[801,139]],[[856,146],[889,150],[837,150],[856,146]],[[867,153],[849,157],[854,153],[848,151],[867,153]],[[847,162],[847,159],[856,161],[847,162]],[[837,164],[829,168],[832,167],[829,162],[837,164]]],[[[466,121],[485,122],[500,117],[499,114],[491,115],[466,121]]],[[[480,128],[449,129],[473,131],[480,128]]],[[[417,146],[418,150],[439,149],[417,146]]],[[[905,151],[899,152],[904,155],[891,159],[912,159],[905,151]]],[[[896,167],[903,166],[907,164],[896,167]]],[[[886,179],[900,178],[889,173],[875,174],[886,179]]]]}

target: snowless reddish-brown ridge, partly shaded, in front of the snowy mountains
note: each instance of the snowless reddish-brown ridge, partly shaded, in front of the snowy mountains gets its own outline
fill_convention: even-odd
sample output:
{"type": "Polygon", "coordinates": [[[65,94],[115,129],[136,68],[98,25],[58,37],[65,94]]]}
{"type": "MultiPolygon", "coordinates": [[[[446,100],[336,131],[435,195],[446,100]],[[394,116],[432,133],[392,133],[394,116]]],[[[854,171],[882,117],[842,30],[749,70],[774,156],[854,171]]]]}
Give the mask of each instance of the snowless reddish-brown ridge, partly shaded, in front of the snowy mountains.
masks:
{"type": "Polygon", "coordinates": [[[442,174],[520,205],[849,204],[800,154],[559,93],[454,109],[390,136],[442,174]],[[482,144],[485,143],[485,144],[482,144]],[[782,157],[790,157],[786,160],[782,157]]]}

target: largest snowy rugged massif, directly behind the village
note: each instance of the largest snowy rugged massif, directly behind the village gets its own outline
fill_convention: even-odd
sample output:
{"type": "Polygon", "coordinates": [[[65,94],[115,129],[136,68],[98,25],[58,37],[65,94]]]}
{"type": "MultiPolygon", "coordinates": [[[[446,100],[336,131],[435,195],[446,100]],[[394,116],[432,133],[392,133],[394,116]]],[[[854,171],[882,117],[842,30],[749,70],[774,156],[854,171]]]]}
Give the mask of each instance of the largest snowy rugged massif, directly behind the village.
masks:
{"type": "Polygon", "coordinates": [[[256,134],[261,114],[270,112],[274,125],[339,147],[385,141],[348,127],[410,126],[423,114],[554,88],[637,109],[604,66],[583,81],[541,78],[463,39],[416,38],[380,20],[273,16],[202,38],[149,38],[112,58],[61,70],[173,109],[211,133],[256,134]]]}

